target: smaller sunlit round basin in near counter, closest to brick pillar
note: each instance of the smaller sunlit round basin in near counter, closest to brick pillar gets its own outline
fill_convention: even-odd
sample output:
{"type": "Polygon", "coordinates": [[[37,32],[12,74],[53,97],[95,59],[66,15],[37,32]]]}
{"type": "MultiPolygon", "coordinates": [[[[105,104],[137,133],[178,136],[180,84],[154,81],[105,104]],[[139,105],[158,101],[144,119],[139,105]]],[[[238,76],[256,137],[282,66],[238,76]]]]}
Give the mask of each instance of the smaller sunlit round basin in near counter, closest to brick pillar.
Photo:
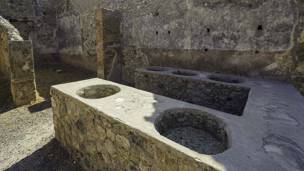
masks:
{"type": "Polygon", "coordinates": [[[101,99],[118,92],[120,88],[115,85],[92,85],[78,90],[76,94],[85,99],[101,99]]]}

